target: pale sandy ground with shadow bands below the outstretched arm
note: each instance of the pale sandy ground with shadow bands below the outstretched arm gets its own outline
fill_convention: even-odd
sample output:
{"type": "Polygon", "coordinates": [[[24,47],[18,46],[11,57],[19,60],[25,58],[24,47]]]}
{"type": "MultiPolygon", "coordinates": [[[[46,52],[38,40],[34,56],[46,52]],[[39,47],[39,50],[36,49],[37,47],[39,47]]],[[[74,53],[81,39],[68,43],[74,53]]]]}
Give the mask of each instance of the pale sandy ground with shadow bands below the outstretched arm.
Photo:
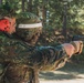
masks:
{"type": "Polygon", "coordinates": [[[40,83],[84,83],[84,65],[71,64],[52,72],[41,72],[40,83]]]}

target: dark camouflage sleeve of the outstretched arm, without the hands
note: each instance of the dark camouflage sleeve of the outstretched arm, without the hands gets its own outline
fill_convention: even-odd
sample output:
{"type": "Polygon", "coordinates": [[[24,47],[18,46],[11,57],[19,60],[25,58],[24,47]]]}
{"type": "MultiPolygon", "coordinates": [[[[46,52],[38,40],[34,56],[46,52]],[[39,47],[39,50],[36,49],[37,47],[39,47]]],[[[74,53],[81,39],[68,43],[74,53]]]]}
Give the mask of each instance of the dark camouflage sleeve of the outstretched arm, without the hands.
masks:
{"type": "Polygon", "coordinates": [[[43,71],[50,71],[64,66],[65,59],[67,59],[67,55],[62,46],[59,45],[56,48],[40,46],[28,60],[30,65],[43,71]]]}

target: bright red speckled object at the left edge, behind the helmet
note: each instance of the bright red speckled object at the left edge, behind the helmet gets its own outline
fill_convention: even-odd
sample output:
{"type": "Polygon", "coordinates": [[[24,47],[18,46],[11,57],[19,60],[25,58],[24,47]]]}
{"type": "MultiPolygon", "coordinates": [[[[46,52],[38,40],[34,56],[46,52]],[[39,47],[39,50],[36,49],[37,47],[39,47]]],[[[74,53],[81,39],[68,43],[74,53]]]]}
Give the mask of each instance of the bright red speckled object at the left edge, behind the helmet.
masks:
{"type": "Polygon", "coordinates": [[[10,22],[7,19],[0,20],[0,31],[8,32],[10,30],[10,22]]]}

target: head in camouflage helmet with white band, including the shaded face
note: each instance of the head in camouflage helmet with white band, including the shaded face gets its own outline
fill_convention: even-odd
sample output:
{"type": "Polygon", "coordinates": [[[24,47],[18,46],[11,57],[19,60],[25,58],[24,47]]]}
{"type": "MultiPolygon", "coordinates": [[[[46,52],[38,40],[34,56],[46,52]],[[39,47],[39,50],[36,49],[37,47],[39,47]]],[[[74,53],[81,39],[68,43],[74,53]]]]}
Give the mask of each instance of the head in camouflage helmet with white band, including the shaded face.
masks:
{"type": "Polygon", "coordinates": [[[35,44],[42,32],[40,18],[30,12],[21,12],[17,19],[17,35],[30,44],[35,44]]]}

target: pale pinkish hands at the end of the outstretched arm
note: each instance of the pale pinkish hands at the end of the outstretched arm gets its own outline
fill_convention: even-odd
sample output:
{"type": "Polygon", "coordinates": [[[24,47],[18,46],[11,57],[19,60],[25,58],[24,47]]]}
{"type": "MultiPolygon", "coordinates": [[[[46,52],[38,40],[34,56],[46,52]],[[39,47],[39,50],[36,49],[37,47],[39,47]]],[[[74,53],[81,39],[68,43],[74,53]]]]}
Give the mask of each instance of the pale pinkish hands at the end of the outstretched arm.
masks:
{"type": "Polygon", "coordinates": [[[73,54],[81,54],[83,50],[83,41],[72,41],[62,44],[66,54],[71,58],[73,54]]]}

